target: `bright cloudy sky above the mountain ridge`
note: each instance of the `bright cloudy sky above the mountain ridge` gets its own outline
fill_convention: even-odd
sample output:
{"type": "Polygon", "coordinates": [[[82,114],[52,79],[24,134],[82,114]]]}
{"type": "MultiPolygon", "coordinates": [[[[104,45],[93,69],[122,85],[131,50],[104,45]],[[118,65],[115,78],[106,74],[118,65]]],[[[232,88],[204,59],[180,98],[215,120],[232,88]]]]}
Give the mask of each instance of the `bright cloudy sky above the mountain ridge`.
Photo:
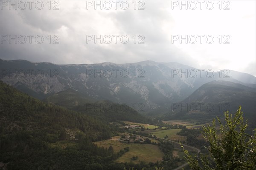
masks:
{"type": "Polygon", "coordinates": [[[0,58],[178,62],[256,75],[255,0],[0,0],[0,58]]]}

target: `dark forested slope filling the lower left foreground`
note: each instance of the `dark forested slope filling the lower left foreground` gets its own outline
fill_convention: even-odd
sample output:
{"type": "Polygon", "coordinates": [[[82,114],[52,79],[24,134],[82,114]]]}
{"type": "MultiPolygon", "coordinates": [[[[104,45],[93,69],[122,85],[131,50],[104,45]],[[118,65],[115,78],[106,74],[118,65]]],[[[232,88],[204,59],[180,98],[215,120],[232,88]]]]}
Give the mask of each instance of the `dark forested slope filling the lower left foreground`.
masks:
{"type": "Polygon", "coordinates": [[[0,162],[8,169],[99,170],[116,157],[91,143],[114,131],[96,118],[45,104],[3,82],[0,104],[0,162]]]}

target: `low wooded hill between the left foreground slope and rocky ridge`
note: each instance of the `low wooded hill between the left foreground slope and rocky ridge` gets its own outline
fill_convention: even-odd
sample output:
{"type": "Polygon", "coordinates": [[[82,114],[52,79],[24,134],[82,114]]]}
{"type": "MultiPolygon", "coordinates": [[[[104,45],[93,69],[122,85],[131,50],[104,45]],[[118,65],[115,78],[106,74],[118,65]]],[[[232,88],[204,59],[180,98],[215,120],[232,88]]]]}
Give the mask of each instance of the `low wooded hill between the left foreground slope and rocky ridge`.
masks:
{"type": "Polygon", "coordinates": [[[129,107],[128,104],[118,104],[109,100],[91,100],[72,89],[51,95],[45,101],[92,115],[102,121],[132,121],[164,126],[163,122],[157,118],[151,119],[140,114],[145,112],[145,105],[143,104],[134,104],[134,106],[129,107]]]}

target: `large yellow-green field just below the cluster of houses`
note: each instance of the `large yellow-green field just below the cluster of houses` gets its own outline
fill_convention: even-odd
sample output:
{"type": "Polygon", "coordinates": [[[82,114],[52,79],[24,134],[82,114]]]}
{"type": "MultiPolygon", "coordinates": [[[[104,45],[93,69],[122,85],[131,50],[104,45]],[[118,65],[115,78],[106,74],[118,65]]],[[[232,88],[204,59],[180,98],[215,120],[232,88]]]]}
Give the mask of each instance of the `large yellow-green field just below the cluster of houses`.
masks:
{"type": "MultiPolygon", "coordinates": [[[[130,162],[133,156],[138,156],[138,159],[133,161],[134,163],[140,163],[140,161],[145,162],[156,162],[161,161],[164,153],[159,150],[158,146],[153,144],[126,144],[118,141],[120,136],[115,136],[112,139],[105,141],[95,142],[99,147],[108,148],[112,145],[114,152],[117,153],[119,150],[123,150],[125,147],[129,147],[130,151],[125,153],[123,156],[117,159],[118,162],[130,162]]],[[[151,141],[156,141],[150,139],[151,141]]]]}

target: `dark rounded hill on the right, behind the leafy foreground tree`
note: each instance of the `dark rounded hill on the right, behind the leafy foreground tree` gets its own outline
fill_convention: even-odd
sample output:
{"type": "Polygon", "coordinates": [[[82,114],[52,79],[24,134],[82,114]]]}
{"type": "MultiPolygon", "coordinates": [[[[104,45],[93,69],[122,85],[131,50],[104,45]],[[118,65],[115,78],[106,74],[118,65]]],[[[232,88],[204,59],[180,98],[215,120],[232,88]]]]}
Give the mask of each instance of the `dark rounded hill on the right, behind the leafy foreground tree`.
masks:
{"type": "Polygon", "coordinates": [[[199,87],[185,100],[172,104],[165,119],[194,119],[207,122],[223,112],[236,112],[242,106],[244,117],[255,128],[256,88],[230,81],[211,81],[199,87]]]}

